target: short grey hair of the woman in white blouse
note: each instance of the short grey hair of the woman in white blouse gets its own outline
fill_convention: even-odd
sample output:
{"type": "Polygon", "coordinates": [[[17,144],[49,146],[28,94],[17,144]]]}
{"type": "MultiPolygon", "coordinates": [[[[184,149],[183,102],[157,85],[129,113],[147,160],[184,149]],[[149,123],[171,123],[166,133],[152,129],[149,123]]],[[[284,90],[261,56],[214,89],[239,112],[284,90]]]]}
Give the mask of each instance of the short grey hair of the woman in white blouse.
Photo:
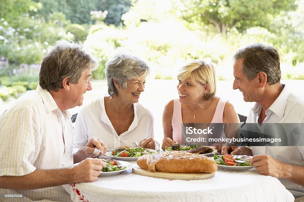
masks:
{"type": "Polygon", "coordinates": [[[150,67],[141,58],[131,53],[117,52],[113,58],[105,63],[105,75],[107,77],[108,93],[117,95],[113,79],[123,89],[127,86],[127,80],[137,78],[142,75],[148,75],[150,67]]]}

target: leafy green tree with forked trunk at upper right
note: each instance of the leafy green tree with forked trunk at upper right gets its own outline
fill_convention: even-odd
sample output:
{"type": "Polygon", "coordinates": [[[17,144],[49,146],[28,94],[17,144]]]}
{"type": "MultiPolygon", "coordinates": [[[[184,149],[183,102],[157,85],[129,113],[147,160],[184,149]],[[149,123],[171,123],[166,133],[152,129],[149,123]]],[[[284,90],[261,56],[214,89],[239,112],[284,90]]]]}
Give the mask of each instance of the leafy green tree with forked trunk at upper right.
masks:
{"type": "Polygon", "coordinates": [[[174,1],[174,10],[188,22],[213,25],[223,35],[231,28],[267,28],[276,15],[296,8],[295,0],[185,0],[174,1]]]}

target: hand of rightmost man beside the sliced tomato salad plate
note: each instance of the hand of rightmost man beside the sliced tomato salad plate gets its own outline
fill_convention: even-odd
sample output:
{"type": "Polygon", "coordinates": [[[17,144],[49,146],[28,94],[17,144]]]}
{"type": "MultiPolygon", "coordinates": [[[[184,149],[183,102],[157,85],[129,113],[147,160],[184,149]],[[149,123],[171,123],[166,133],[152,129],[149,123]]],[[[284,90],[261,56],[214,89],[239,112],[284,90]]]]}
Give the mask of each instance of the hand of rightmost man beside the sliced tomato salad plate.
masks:
{"type": "Polygon", "coordinates": [[[268,155],[256,155],[250,160],[250,165],[255,167],[255,170],[261,175],[270,175],[277,178],[289,178],[287,172],[287,164],[271,158],[268,155]]]}

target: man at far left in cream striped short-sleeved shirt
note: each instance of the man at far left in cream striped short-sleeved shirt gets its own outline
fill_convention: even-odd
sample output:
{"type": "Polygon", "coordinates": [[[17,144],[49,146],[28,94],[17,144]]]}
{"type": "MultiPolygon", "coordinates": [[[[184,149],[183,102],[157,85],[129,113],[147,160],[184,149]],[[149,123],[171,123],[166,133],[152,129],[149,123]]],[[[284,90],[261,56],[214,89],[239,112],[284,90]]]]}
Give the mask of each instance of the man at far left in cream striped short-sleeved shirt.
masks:
{"type": "MultiPolygon", "coordinates": [[[[44,56],[36,91],[19,98],[0,117],[0,193],[21,194],[24,201],[71,201],[63,184],[92,182],[105,162],[95,157],[105,144],[92,137],[73,151],[71,115],[97,62],[82,45],[61,40],[44,56]],[[87,158],[87,159],[86,159],[87,158]],[[85,160],[84,160],[85,159],[85,160]],[[84,160],[84,161],[82,161],[84,160]],[[81,162],[75,167],[73,163],[81,162]]],[[[8,200],[17,198],[5,198],[8,200]]]]}

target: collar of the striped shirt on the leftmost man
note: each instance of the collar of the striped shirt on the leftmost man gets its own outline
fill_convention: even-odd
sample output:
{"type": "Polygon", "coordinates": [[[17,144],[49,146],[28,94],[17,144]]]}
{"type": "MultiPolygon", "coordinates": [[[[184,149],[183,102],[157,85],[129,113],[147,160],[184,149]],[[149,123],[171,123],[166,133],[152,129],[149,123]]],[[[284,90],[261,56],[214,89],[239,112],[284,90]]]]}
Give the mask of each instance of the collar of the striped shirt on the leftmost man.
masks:
{"type": "MultiPolygon", "coordinates": [[[[55,111],[55,110],[60,111],[54,98],[52,97],[52,95],[50,94],[50,92],[48,90],[43,89],[43,88],[41,88],[40,85],[38,85],[36,88],[36,92],[41,96],[47,114],[50,113],[51,111],[55,111]]],[[[62,111],[62,114],[67,118],[72,117],[71,114],[67,110],[62,111]]]]}

